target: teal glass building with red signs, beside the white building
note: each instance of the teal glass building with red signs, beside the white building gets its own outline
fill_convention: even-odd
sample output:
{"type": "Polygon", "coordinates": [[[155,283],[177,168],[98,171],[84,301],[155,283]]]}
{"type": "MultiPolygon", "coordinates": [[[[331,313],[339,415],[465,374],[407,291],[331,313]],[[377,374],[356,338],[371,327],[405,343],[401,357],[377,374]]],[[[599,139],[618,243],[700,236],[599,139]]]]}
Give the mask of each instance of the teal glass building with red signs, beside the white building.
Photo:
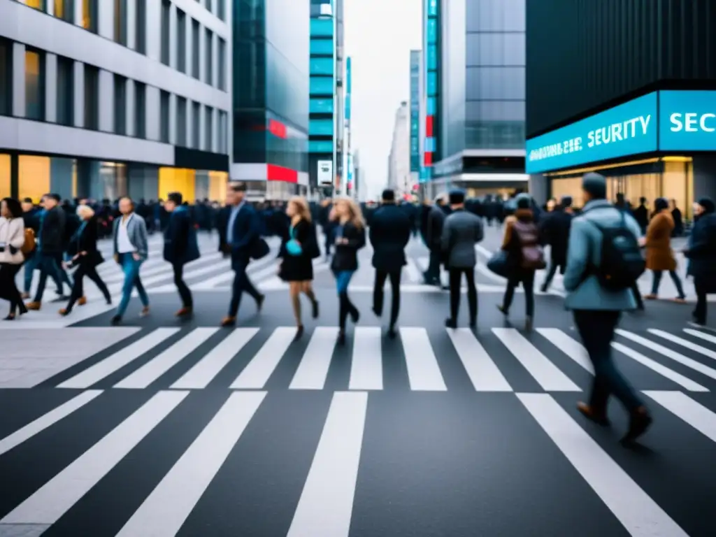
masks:
{"type": "Polygon", "coordinates": [[[309,0],[235,0],[231,178],[252,199],[309,186],[309,0]]]}

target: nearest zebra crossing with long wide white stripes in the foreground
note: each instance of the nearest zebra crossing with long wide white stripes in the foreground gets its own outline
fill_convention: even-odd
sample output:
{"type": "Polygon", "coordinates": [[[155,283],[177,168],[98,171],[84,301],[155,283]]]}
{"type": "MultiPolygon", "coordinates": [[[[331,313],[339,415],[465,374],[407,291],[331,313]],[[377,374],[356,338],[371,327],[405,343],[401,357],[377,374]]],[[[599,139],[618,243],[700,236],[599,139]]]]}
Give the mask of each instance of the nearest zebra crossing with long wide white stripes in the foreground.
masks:
{"type": "MultiPolygon", "coordinates": [[[[680,391],[644,392],[655,417],[644,442],[664,451],[649,468],[659,463],[654,471],[669,480],[668,493],[644,474],[644,458],[616,451],[618,432],[586,423],[574,401],[546,393],[448,401],[453,406],[416,398],[399,409],[364,390],[321,400],[266,390],[64,393],[17,405],[19,419],[0,421],[0,475],[11,484],[0,493],[2,536],[505,535],[515,533],[515,519],[525,535],[564,535],[574,511],[581,536],[712,535],[712,524],[684,515],[684,495],[693,500],[686,505],[708,502],[708,487],[690,488],[698,468],[671,483],[668,467],[697,453],[712,462],[716,413],[680,391]],[[499,427],[495,415],[505,421],[499,427]],[[456,419],[460,432],[435,442],[443,422],[456,419]],[[505,434],[523,435],[528,449],[499,446],[505,434]],[[664,445],[670,437],[679,439],[676,455],[664,445]],[[495,516],[514,512],[528,490],[531,503],[552,498],[559,511],[495,516]],[[475,502],[493,514],[474,518],[475,502]],[[448,528],[438,531],[440,523],[448,528]]],[[[712,464],[700,470],[715,473],[712,464]]]]}

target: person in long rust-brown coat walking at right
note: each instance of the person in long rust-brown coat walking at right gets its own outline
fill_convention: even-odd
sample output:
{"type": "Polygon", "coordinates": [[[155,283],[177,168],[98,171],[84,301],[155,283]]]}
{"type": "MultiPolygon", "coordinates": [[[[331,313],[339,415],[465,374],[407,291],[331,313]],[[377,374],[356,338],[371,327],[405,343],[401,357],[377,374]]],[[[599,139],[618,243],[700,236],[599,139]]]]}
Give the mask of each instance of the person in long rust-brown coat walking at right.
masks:
{"type": "Polygon", "coordinates": [[[666,198],[657,198],[654,201],[654,216],[649,221],[644,246],[647,250],[647,269],[654,274],[652,292],[644,296],[647,300],[659,298],[659,284],[662,283],[662,274],[669,271],[674,287],[679,294],[674,301],[686,303],[686,294],[681,279],[676,273],[676,258],[671,248],[672,231],[674,231],[674,217],[669,211],[669,202],[666,198]]]}

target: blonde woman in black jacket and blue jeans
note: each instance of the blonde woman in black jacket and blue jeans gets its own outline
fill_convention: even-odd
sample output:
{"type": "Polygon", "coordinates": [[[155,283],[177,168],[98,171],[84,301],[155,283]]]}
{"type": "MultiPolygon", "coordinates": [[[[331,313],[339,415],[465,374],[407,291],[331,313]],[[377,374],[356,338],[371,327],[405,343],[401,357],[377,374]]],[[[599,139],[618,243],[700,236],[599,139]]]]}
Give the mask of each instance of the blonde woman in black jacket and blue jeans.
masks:
{"type": "Polygon", "coordinates": [[[346,321],[350,314],[354,323],[360,313],[348,298],[348,284],[358,270],[358,251],[365,246],[365,223],[356,203],[349,198],[335,201],[331,220],[336,223],[334,230],[336,253],[331,262],[331,270],[336,277],[339,299],[339,337],[338,343],[346,342],[346,321]]]}

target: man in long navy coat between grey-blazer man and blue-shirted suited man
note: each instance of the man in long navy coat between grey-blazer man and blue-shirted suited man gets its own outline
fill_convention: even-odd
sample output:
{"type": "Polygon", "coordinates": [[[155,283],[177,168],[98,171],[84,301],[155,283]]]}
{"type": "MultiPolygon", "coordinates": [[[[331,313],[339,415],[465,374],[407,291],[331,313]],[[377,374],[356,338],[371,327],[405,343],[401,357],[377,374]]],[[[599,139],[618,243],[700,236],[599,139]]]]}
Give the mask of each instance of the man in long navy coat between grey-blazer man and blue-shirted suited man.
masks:
{"type": "Polygon", "coordinates": [[[191,314],[194,307],[191,291],[184,281],[184,266],[199,258],[196,230],[180,193],[170,193],[164,202],[164,208],[170,215],[164,231],[164,259],[172,263],[174,285],[177,286],[182,302],[176,316],[185,317],[191,314]]]}

